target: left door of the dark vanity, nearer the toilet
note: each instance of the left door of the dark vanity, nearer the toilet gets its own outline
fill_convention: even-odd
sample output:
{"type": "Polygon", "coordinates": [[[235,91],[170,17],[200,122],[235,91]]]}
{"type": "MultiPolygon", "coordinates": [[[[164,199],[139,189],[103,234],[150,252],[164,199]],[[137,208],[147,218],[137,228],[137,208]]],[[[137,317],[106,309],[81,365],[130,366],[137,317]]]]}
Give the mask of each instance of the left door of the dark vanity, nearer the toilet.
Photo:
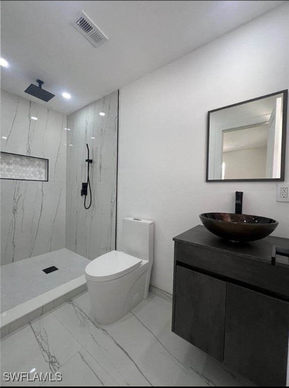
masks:
{"type": "Polygon", "coordinates": [[[175,333],[223,361],[226,283],[176,266],[175,333]]]}

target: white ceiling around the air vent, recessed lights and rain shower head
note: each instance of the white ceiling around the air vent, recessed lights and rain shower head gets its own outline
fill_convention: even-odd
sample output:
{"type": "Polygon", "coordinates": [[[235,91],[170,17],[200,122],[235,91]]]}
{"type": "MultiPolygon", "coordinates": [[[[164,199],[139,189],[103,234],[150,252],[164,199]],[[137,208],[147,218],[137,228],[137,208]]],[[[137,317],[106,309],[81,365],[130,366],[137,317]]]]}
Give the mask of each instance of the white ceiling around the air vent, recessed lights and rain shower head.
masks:
{"type": "Polygon", "coordinates": [[[1,85],[68,115],[282,3],[2,0],[1,85]],[[71,25],[82,10],[108,37],[98,48],[71,25]],[[24,92],[36,79],[48,103],[24,92]]]}

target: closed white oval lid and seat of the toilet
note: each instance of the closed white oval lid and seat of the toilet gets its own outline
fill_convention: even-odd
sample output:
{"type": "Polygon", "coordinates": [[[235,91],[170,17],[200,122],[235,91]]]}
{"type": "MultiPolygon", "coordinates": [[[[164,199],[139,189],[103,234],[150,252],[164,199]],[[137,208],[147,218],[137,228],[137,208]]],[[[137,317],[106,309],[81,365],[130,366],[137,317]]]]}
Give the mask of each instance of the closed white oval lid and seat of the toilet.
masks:
{"type": "Polygon", "coordinates": [[[87,264],[85,276],[92,281],[107,281],[124,276],[142,263],[141,259],[124,252],[111,251],[87,264]]]}

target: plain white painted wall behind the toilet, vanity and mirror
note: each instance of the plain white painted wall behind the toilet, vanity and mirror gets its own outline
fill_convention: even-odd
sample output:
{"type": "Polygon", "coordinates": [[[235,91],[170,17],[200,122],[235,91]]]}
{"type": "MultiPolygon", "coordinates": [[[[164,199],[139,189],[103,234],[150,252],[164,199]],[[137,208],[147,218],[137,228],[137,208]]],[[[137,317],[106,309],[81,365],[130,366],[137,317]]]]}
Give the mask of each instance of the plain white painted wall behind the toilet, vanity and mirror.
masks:
{"type": "Polygon", "coordinates": [[[205,182],[207,111],[287,89],[288,36],[285,4],[120,90],[117,249],[123,217],[155,221],[152,285],[172,292],[172,237],[200,213],[234,212],[236,190],[244,213],[289,236],[276,182],[205,182]]]}

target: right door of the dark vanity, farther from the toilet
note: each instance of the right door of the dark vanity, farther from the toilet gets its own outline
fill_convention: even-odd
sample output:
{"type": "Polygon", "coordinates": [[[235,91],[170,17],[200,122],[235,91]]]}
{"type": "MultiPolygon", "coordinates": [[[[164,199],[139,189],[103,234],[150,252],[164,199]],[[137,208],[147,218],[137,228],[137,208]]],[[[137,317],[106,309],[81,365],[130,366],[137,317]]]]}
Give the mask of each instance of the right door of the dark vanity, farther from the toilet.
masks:
{"type": "Polygon", "coordinates": [[[289,304],[227,283],[224,362],[263,386],[285,386],[289,304]]]}

